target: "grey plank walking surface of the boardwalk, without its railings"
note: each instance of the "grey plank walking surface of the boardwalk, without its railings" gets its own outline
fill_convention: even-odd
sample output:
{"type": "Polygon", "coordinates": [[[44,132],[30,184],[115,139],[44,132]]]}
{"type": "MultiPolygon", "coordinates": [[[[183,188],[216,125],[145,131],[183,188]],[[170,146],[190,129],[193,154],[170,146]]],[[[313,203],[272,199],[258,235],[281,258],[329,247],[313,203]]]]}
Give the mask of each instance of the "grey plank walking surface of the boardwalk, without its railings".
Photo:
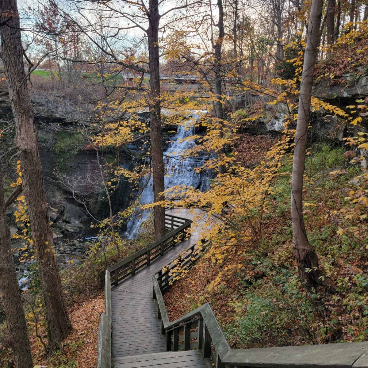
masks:
{"type": "MultiPolygon", "coordinates": [[[[199,213],[199,211],[191,213],[187,209],[179,208],[166,210],[166,213],[193,219],[194,214],[199,213]]],[[[199,225],[204,220],[205,217],[198,222],[199,225]]],[[[157,316],[156,301],[152,298],[152,275],[173,261],[178,253],[197,243],[200,234],[198,228],[191,228],[191,236],[188,240],[178,243],[175,248],[171,248],[162,257],[153,261],[151,265],[139,270],[134,276],[128,277],[118,286],[112,287],[112,359],[114,367],[154,367],[152,362],[147,363],[148,365],[139,365],[139,360],[134,364],[128,361],[123,363],[124,360],[121,358],[150,353],[165,352],[165,354],[171,354],[166,353],[165,336],[160,333],[161,321],[157,316]]],[[[190,352],[186,351],[185,353],[189,354],[190,352]]],[[[173,355],[170,356],[172,359],[173,355]]],[[[207,361],[203,361],[198,354],[188,355],[188,357],[185,359],[190,359],[191,364],[194,364],[196,360],[198,365],[185,363],[183,367],[207,366],[207,361]]],[[[165,357],[160,358],[158,361],[161,362],[156,365],[162,368],[182,367],[170,362],[167,362],[169,365],[165,365],[165,359],[165,357]]]]}

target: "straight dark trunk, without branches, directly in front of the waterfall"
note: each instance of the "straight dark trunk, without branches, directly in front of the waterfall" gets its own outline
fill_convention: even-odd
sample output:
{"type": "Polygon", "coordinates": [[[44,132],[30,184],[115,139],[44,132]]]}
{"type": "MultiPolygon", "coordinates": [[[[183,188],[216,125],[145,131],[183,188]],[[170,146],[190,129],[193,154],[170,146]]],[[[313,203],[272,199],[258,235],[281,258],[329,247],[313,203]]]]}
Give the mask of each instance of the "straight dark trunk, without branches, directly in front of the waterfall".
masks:
{"type": "MultiPolygon", "coordinates": [[[[164,199],[160,192],[165,190],[164,163],[162,155],[161,134],[161,101],[160,101],[160,69],[159,69],[159,5],[158,0],[149,1],[148,52],[149,52],[149,80],[150,113],[151,113],[151,157],[153,162],[153,198],[154,201],[164,199]]],[[[154,207],[155,239],[158,240],[165,231],[165,209],[154,207]]]]}

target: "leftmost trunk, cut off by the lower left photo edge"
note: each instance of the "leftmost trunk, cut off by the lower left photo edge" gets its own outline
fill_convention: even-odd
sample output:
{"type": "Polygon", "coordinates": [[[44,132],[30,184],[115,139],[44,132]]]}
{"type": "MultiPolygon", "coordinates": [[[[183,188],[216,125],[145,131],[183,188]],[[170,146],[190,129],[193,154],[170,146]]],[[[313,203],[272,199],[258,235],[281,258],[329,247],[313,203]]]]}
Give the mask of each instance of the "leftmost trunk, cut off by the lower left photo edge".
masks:
{"type": "Polygon", "coordinates": [[[4,203],[3,169],[0,163],[0,291],[3,293],[7,332],[16,368],[32,368],[31,346],[21,293],[10,247],[10,229],[4,203]]]}

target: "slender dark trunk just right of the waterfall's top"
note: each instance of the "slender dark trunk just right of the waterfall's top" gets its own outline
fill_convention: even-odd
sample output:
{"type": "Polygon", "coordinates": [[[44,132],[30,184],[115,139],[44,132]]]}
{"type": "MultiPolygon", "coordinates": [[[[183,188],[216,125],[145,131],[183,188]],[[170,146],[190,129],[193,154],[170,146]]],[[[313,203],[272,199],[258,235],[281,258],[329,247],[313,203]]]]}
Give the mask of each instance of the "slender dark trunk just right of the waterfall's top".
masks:
{"type": "MultiPolygon", "coordinates": [[[[215,93],[216,93],[216,117],[217,117],[217,124],[222,125],[222,121],[224,118],[224,110],[222,106],[222,79],[221,79],[221,48],[222,42],[225,36],[224,30],[224,8],[222,4],[222,0],[217,0],[217,7],[219,8],[219,21],[217,26],[219,28],[219,37],[216,40],[215,44],[215,93]]],[[[220,138],[223,138],[222,129],[220,129],[220,138]]],[[[219,159],[222,159],[224,153],[224,149],[221,148],[219,150],[219,159]]],[[[225,165],[219,164],[219,174],[225,173],[225,165]]]]}

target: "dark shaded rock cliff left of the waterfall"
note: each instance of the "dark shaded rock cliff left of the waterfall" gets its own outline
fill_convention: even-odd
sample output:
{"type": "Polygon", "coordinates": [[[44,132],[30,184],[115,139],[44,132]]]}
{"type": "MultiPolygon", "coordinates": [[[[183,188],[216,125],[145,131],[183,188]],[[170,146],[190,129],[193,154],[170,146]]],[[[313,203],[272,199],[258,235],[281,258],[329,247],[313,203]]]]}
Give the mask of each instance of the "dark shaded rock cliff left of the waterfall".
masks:
{"type": "MultiPolygon", "coordinates": [[[[59,222],[64,234],[81,230],[84,228],[82,223],[88,222],[89,216],[84,206],[73,197],[85,200],[87,208],[99,219],[106,217],[108,211],[96,153],[93,149],[86,148],[88,141],[78,132],[79,121],[91,118],[93,107],[87,104],[78,104],[76,107],[63,96],[43,93],[33,93],[32,102],[47,202],[50,206],[50,221],[59,222]]],[[[0,100],[0,117],[8,121],[13,119],[10,103],[6,99],[0,100]]],[[[147,118],[147,113],[142,113],[139,117],[143,120],[147,118]]],[[[14,131],[13,136],[9,135],[7,139],[7,145],[12,146],[14,131]]],[[[100,152],[100,155],[107,162],[115,159],[114,152],[100,152]]],[[[133,169],[135,164],[130,154],[121,152],[121,166],[133,169]]],[[[7,170],[8,176],[15,180],[14,169],[8,167],[7,170]]],[[[130,193],[131,184],[120,178],[118,188],[112,196],[114,210],[127,207],[130,193]]],[[[14,209],[8,212],[13,219],[14,209]]]]}

